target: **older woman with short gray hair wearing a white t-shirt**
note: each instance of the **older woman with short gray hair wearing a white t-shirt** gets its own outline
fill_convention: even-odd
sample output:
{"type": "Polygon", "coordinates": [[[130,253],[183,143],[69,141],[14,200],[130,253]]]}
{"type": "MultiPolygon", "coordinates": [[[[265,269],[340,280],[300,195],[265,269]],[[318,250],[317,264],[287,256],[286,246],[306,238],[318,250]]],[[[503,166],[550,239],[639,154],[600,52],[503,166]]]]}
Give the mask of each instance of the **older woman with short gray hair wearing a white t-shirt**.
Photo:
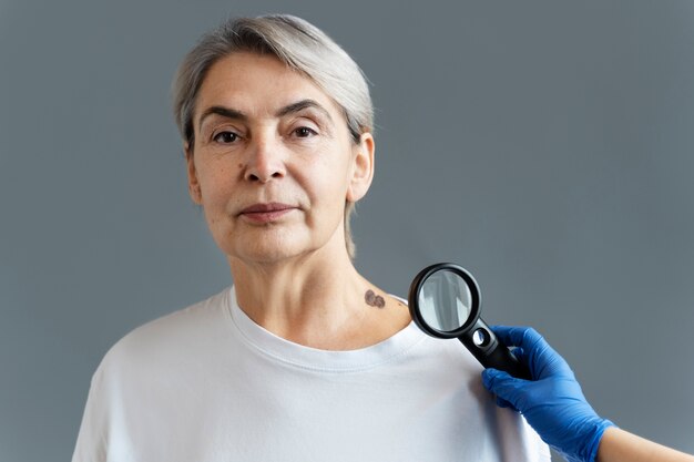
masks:
{"type": "Polygon", "coordinates": [[[73,461],[549,461],[480,367],[351,260],[374,176],[357,64],[287,16],[229,21],[174,85],[190,194],[234,286],[105,356],[73,461]]]}

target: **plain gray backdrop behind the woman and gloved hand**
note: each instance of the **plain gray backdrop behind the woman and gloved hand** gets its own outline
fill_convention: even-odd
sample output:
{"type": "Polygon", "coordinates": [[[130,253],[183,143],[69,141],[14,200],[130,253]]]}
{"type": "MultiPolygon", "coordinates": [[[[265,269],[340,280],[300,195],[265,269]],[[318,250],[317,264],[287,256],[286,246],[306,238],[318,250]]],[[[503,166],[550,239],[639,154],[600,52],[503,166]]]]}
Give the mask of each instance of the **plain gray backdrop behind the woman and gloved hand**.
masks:
{"type": "Polygon", "coordinates": [[[694,1],[0,1],[0,460],[71,456],[92,372],[231,284],[169,85],[227,16],[289,12],[361,64],[360,270],[457,261],[601,414],[694,452],[694,1]]]}

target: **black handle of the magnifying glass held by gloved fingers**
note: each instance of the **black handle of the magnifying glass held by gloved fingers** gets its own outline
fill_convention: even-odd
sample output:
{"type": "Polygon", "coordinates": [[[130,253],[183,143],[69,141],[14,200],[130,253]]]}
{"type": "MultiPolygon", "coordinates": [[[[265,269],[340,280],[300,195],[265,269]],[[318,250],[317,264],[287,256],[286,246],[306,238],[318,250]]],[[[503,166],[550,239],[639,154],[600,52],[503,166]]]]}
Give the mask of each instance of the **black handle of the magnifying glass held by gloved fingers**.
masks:
{"type": "Polygon", "coordinates": [[[458,337],[458,340],[484,368],[499,369],[518,379],[532,380],[528,368],[497,338],[481,318],[458,337]]]}

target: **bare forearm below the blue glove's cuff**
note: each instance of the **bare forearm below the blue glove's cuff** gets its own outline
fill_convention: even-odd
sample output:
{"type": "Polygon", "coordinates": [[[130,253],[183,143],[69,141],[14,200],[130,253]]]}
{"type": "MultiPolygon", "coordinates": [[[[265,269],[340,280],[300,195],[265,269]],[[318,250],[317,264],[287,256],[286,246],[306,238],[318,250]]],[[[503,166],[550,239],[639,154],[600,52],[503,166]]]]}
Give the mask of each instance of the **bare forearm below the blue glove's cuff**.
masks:
{"type": "Polygon", "coordinates": [[[624,430],[611,427],[605,430],[598,446],[598,462],[694,462],[688,455],[654,443],[624,430]]]}

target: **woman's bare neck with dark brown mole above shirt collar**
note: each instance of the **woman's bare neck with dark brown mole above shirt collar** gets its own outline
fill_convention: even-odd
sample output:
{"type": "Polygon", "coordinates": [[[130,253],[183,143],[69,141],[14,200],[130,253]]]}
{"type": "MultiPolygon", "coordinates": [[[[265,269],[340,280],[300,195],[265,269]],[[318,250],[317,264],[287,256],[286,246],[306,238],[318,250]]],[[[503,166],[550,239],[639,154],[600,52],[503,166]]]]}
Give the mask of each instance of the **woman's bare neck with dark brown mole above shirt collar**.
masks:
{"type": "Polygon", "coordinates": [[[407,326],[407,308],[361,277],[346,251],[337,254],[262,265],[229,259],[238,306],[282,338],[329,350],[367,347],[407,326]]]}

